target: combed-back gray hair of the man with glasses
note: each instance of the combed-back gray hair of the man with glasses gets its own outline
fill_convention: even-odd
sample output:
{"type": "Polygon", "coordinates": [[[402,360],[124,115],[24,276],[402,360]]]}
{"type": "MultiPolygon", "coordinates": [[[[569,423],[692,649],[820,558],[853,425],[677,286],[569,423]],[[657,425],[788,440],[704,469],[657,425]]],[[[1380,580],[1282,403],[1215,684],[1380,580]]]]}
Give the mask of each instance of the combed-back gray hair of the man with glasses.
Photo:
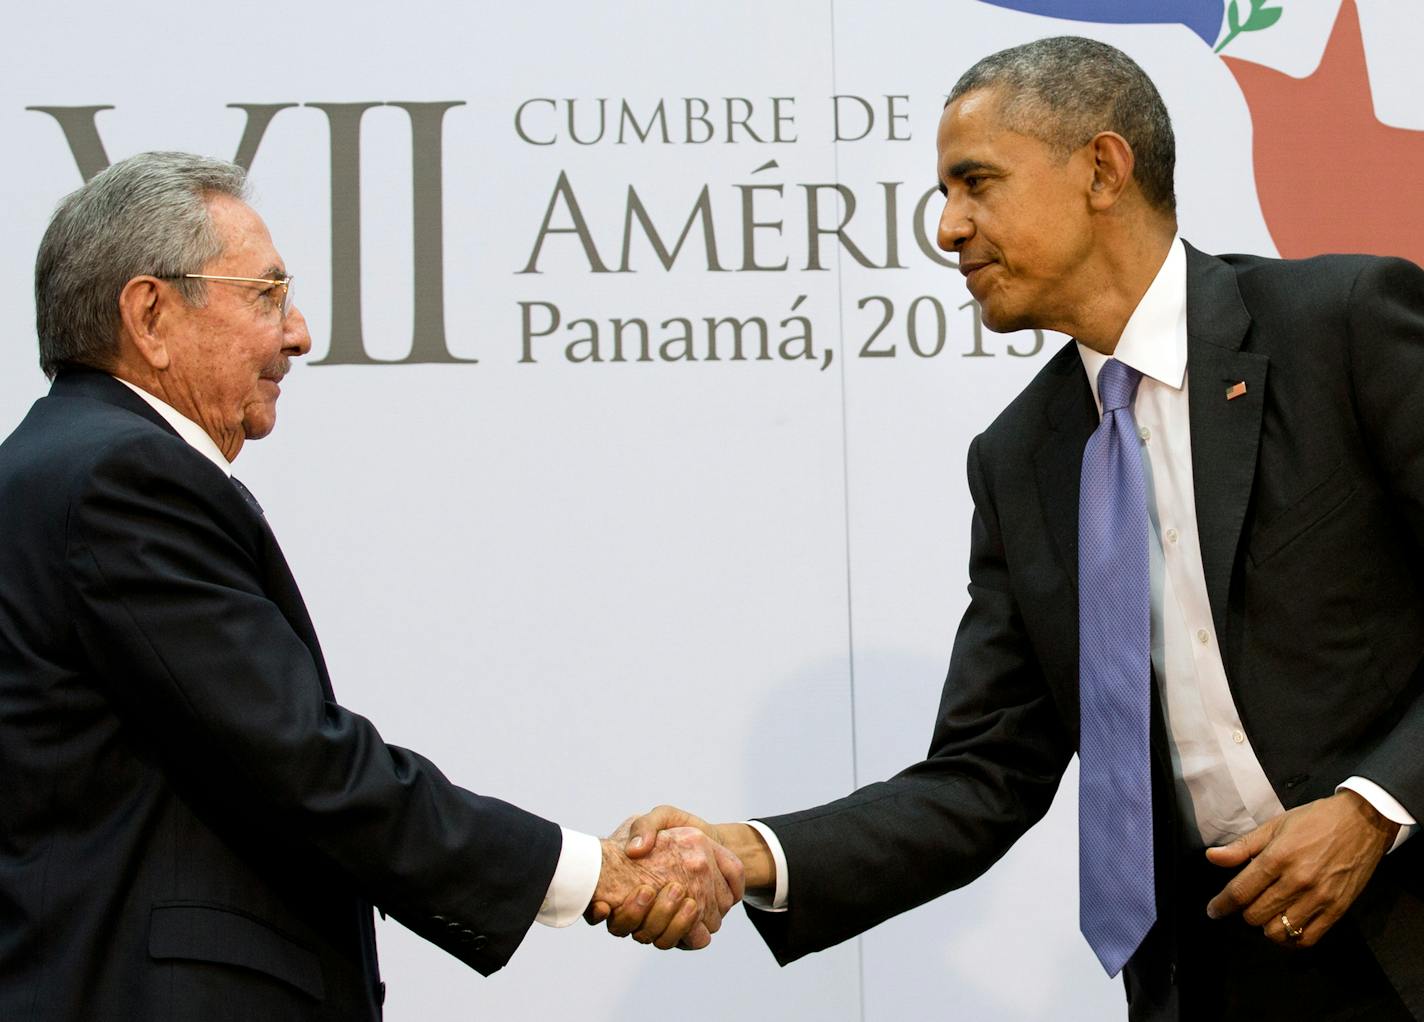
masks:
{"type": "MultiPolygon", "coordinates": [[[[70,192],[34,260],[40,369],[111,369],[118,356],[118,296],[135,276],[181,278],[222,255],[208,199],[246,198],[246,171],[187,152],[141,152],[70,192]]],[[[175,280],[189,305],[202,280],[175,280]]]]}

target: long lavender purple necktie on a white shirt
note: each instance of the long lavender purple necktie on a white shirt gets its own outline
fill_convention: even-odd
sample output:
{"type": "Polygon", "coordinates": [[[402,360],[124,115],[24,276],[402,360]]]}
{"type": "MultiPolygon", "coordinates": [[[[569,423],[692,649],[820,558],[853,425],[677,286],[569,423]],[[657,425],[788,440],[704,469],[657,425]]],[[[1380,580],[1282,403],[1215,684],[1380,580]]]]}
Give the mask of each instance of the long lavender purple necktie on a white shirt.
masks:
{"type": "Polygon", "coordinates": [[[1152,884],[1152,589],[1132,399],[1142,374],[1108,359],[1102,423],[1078,497],[1078,928],[1115,976],[1156,921],[1152,884]]]}

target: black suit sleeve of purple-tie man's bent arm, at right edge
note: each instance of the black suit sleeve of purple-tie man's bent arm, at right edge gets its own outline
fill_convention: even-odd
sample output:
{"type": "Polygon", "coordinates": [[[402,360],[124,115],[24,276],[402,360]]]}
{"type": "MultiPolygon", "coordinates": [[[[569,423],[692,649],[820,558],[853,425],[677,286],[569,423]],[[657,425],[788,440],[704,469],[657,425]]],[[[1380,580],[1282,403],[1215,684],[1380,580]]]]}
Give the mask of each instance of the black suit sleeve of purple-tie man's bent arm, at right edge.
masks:
{"type": "MultiPolygon", "coordinates": [[[[1371,259],[1350,293],[1350,386],[1364,444],[1408,539],[1424,589],[1424,270],[1371,259]]],[[[1411,636],[1424,649],[1424,636],[1411,636]]],[[[1390,733],[1354,771],[1424,820],[1424,663],[1390,733]]]]}

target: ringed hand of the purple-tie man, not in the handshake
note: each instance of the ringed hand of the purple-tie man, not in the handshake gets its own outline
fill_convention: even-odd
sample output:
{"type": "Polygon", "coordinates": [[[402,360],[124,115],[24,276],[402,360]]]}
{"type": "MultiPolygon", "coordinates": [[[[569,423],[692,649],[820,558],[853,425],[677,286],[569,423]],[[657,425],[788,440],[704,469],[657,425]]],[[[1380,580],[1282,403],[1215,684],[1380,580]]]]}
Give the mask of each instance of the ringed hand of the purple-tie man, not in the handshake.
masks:
{"type": "Polygon", "coordinates": [[[1354,904],[1398,830],[1350,790],[1299,806],[1206,850],[1215,865],[1250,863],[1212,898],[1206,914],[1219,920],[1240,912],[1277,944],[1309,948],[1354,904]]]}

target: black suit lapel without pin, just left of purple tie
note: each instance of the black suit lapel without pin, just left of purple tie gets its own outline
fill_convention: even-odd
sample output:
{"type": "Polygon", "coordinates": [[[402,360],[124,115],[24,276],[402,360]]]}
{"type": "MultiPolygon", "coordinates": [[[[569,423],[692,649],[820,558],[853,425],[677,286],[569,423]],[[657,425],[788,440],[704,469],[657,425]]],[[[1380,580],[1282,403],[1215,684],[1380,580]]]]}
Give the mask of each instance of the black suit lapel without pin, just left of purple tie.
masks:
{"type": "Polygon", "coordinates": [[[1058,390],[1044,409],[1048,433],[1034,455],[1034,467],[1044,521],[1072,579],[1072,591],[1078,592],[1078,488],[1082,448],[1098,427],[1098,406],[1092,400],[1078,346],[1069,342],[1057,362],[1058,390]]]}

